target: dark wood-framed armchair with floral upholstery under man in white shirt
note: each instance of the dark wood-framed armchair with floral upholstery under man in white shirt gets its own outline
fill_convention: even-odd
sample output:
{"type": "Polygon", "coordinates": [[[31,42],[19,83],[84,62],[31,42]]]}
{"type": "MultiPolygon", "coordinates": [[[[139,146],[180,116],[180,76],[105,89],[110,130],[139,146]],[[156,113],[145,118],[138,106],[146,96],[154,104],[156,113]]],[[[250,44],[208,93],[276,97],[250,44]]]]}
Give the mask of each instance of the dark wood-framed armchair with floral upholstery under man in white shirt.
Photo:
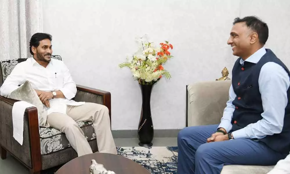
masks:
{"type": "MultiPolygon", "coordinates": [[[[61,60],[60,56],[52,56],[61,60]]],[[[1,61],[0,86],[10,74],[14,66],[26,59],[1,61]]],[[[93,102],[108,107],[111,120],[110,92],[77,85],[75,101],[93,102]]],[[[77,153],[70,146],[65,134],[55,128],[45,128],[38,125],[36,107],[26,108],[24,113],[23,145],[13,138],[12,106],[17,100],[0,96],[0,154],[6,159],[7,151],[24,166],[30,173],[40,174],[45,170],[64,164],[77,157],[77,153]]],[[[77,122],[87,137],[93,152],[98,151],[96,135],[92,122],[77,122]]]]}

